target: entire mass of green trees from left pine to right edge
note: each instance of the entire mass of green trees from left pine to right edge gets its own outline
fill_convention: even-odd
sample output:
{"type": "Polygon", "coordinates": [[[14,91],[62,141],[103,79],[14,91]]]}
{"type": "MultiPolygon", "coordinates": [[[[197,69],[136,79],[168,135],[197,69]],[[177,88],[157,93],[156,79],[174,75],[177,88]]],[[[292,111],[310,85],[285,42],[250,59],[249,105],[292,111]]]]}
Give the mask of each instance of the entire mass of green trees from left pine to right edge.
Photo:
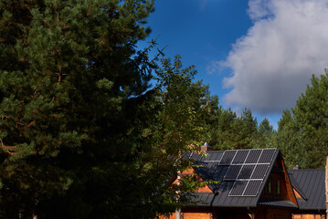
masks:
{"type": "Polygon", "coordinates": [[[155,41],[137,47],[152,12],[145,0],[0,1],[1,218],[174,212],[197,186],[172,184],[190,165],[181,154],[204,142],[275,147],[288,167],[323,167],[327,73],[273,130],[248,109],[224,109],[195,67],[155,41]]]}

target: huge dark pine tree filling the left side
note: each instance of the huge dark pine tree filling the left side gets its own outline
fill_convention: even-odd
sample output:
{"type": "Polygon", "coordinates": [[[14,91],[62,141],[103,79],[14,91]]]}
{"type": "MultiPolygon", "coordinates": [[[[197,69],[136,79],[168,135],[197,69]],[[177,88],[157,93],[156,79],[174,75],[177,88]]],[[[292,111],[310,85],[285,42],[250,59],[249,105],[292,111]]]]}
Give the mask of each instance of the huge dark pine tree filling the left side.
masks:
{"type": "Polygon", "coordinates": [[[116,217],[143,147],[135,123],[152,65],[135,47],[152,10],[143,0],[0,1],[2,218],[116,217]]]}

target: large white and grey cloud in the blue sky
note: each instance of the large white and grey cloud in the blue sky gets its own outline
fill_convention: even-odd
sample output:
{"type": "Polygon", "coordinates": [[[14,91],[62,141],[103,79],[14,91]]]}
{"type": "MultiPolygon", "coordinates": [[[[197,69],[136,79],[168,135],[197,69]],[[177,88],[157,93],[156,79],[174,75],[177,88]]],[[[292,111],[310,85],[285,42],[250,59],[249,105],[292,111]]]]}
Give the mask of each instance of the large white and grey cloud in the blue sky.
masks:
{"type": "Polygon", "coordinates": [[[224,79],[231,89],[226,104],[262,113],[294,106],[312,74],[328,66],[327,5],[328,0],[250,0],[253,26],[218,62],[233,72],[224,79]]]}

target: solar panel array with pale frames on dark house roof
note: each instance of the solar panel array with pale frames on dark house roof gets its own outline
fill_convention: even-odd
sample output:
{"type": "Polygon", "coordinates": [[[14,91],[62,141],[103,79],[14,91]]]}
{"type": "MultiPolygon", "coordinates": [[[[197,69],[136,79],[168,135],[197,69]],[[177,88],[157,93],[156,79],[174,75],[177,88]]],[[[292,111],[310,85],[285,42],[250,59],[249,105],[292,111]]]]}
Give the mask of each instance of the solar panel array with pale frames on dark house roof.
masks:
{"type": "Polygon", "coordinates": [[[228,166],[224,182],[234,182],[229,196],[257,196],[275,149],[225,151],[219,162],[228,166]]]}

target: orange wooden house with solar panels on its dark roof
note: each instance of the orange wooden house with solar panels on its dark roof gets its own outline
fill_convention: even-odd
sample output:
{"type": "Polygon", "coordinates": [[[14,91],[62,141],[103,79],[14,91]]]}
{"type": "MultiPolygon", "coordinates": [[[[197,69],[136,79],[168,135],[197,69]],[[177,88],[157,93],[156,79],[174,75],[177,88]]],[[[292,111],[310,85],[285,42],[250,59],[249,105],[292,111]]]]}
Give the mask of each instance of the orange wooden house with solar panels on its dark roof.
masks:
{"type": "MultiPolygon", "coordinates": [[[[299,210],[280,150],[187,152],[200,180],[209,182],[196,191],[196,205],[181,209],[183,219],[284,219],[299,210]]],[[[170,219],[175,219],[172,214],[170,219]]]]}

